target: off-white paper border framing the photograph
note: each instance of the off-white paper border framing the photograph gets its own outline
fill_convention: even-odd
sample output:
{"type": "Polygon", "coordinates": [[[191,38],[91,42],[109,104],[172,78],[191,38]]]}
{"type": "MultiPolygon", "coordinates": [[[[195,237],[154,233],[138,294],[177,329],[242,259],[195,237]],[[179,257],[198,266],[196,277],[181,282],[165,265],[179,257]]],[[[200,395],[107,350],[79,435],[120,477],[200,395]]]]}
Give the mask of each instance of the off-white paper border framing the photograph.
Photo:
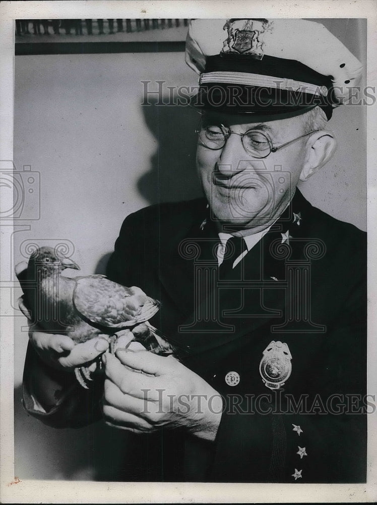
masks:
{"type": "MultiPolygon", "coordinates": [[[[0,159],[13,159],[14,108],[14,19],[51,18],[228,18],[253,16],[263,18],[367,18],[367,85],[374,85],[377,75],[377,7],[369,0],[337,2],[255,1],[89,1],[89,2],[2,2],[0,4],[0,159]],[[67,14],[69,13],[69,15],[67,14]]],[[[377,392],[377,159],[376,106],[367,108],[367,231],[368,231],[368,393],[377,392]]],[[[10,208],[9,202],[3,205],[10,208]]],[[[5,226],[4,224],[2,226],[5,226]]],[[[7,269],[7,256],[0,255],[0,271],[7,269]]],[[[345,272],[346,275],[346,272],[345,272]]],[[[7,299],[1,293],[3,311],[7,299]]],[[[13,318],[1,321],[0,342],[0,426],[1,426],[1,501],[2,503],[41,502],[369,502],[377,498],[377,414],[368,416],[368,462],[366,484],[229,484],[166,482],[86,482],[22,480],[14,476],[13,417],[13,318]]]]}

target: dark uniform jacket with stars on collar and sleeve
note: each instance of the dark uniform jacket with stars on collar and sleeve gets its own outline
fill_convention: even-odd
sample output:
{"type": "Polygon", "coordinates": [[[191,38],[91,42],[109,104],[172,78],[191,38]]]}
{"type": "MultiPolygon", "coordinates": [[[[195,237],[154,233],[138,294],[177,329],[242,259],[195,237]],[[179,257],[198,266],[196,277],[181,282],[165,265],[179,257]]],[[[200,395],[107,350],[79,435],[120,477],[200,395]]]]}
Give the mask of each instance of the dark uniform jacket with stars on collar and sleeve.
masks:
{"type": "MultiPolygon", "coordinates": [[[[162,204],[130,215],[109,260],[110,279],[161,301],[151,323],[224,403],[214,443],[179,430],[133,435],[145,458],[125,478],[364,482],[365,233],[296,190],[269,232],[220,280],[206,204],[162,204]]],[[[98,419],[101,381],[87,392],[67,375],[29,348],[26,409],[56,427],[98,419]],[[58,390],[57,403],[36,412],[30,391],[45,398],[48,388],[58,390]]]]}

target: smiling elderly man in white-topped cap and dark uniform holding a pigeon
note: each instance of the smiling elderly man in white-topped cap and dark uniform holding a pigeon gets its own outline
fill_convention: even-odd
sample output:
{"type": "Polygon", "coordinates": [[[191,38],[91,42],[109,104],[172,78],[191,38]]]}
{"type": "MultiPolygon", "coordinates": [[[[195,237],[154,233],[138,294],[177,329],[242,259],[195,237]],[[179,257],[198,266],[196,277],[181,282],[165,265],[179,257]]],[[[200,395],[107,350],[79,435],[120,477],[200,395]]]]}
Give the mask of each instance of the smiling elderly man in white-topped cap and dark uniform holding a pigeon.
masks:
{"type": "Polygon", "coordinates": [[[264,19],[192,21],[186,62],[205,198],[130,215],[108,264],[161,300],[178,359],[119,345],[88,393],[68,371],[107,343],[34,331],[25,407],[134,432],[139,479],[158,461],[166,481],[364,481],[365,234],[296,189],[331,158],[361,65],[318,23],[264,19]]]}

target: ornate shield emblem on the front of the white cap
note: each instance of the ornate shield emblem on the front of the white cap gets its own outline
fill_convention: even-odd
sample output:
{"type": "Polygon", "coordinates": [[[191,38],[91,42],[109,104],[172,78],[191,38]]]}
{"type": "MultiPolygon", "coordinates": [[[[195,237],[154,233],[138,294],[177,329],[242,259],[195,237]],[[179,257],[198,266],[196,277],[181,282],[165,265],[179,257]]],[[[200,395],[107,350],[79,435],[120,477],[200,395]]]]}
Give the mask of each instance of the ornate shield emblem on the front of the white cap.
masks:
{"type": "Polygon", "coordinates": [[[249,55],[257,60],[263,58],[263,36],[271,30],[272,22],[267,19],[228,19],[224,25],[228,38],[224,40],[221,53],[249,55]]]}

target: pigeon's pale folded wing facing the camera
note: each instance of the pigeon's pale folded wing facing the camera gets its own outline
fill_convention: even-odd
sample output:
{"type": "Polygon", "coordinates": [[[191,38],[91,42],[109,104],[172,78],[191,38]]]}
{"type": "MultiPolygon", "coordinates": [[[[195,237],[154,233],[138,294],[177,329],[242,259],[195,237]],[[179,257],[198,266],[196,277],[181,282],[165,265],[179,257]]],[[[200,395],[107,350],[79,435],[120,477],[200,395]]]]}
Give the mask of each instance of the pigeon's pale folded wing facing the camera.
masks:
{"type": "Polygon", "coordinates": [[[140,288],[122,286],[102,275],[78,279],[73,303],[92,323],[117,330],[148,321],[160,308],[160,302],[140,288]]]}

